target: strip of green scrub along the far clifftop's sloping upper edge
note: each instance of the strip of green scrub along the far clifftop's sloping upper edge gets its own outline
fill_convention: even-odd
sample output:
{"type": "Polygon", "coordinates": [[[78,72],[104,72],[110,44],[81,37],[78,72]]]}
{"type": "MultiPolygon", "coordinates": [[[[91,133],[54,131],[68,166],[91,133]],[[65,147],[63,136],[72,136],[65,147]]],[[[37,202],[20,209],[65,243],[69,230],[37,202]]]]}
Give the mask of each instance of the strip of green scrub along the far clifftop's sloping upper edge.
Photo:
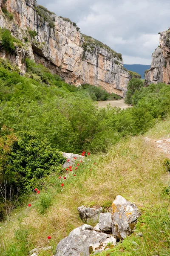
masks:
{"type": "Polygon", "coordinates": [[[112,53],[112,55],[113,55],[114,57],[116,57],[117,59],[119,59],[119,60],[122,61],[122,54],[115,52],[115,51],[112,50],[108,45],[103,44],[103,43],[100,42],[99,40],[96,40],[96,39],[94,39],[94,38],[92,38],[91,36],[88,36],[88,35],[82,34],[82,37],[85,39],[85,41],[84,41],[84,43],[83,43],[83,45],[82,45],[82,48],[84,49],[84,52],[86,52],[86,50],[88,49],[88,47],[92,47],[93,45],[96,45],[96,46],[99,46],[99,47],[102,47],[102,48],[107,49],[109,52],[112,53]]]}

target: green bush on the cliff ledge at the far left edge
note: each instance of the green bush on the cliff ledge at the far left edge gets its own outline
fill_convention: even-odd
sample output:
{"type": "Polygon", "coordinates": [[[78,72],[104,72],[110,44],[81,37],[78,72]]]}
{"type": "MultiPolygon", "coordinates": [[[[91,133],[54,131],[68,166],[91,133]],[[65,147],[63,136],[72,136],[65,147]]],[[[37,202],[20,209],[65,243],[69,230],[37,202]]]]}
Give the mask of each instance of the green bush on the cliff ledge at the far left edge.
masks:
{"type": "Polygon", "coordinates": [[[13,52],[15,49],[14,39],[8,29],[2,29],[2,46],[7,52],[13,52]]]}

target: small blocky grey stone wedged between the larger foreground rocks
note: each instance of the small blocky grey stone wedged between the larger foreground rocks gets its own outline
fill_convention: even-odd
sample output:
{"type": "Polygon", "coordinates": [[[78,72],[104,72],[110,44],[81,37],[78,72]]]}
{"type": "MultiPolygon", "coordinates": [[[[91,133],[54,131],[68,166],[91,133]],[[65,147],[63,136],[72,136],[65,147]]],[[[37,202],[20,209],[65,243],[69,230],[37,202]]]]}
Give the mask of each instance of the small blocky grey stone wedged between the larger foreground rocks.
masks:
{"type": "Polygon", "coordinates": [[[99,229],[104,233],[110,233],[112,227],[111,213],[100,213],[99,215],[99,229]]]}

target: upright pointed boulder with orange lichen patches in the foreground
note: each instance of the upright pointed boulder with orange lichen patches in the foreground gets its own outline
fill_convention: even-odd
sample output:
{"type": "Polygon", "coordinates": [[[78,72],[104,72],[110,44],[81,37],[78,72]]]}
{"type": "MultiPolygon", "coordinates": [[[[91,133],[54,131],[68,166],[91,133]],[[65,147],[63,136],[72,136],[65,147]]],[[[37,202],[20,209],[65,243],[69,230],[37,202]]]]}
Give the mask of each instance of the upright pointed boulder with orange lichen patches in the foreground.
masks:
{"type": "Polygon", "coordinates": [[[112,234],[118,239],[125,239],[135,227],[141,215],[137,206],[127,201],[121,195],[116,196],[111,209],[112,234]]]}

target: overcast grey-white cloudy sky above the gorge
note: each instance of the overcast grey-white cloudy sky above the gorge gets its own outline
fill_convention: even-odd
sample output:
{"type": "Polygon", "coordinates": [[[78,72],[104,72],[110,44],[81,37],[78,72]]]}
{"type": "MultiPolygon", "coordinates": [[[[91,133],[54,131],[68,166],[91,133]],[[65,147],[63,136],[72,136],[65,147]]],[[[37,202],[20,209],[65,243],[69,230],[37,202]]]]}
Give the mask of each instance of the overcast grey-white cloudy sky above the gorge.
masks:
{"type": "Polygon", "coordinates": [[[83,34],[122,53],[124,64],[149,64],[158,32],[170,27],[170,0],[37,0],[76,22],[83,34]]]}

